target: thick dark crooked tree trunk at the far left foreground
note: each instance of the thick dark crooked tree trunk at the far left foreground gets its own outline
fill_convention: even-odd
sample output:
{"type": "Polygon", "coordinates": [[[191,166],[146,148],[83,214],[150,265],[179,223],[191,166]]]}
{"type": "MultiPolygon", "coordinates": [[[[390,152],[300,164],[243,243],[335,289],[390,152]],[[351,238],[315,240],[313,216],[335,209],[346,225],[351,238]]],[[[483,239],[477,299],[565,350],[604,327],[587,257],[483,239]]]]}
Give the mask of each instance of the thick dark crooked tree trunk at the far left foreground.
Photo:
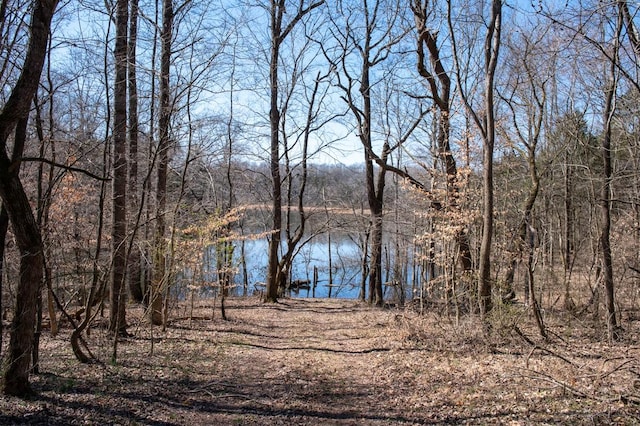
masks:
{"type": "MultiPolygon", "coordinates": [[[[29,384],[29,356],[33,345],[36,306],[44,268],[40,229],[18,175],[20,160],[9,158],[7,142],[18,121],[26,120],[29,115],[29,107],[38,89],[47,52],[51,19],[57,4],[57,0],[34,2],[29,26],[29,46],[22,71],[0,112],[0,197],[3,207],[7,210],[20,251],[20,281],[9,331],[9,349],[3,366],[3,392],[7,395],[25,396],[32,391],[29,384]]],[[[14,153],[17,151],[14,147],[14,153]]],[[[21,154],[20,151],[20,156],[21,154]]]]}

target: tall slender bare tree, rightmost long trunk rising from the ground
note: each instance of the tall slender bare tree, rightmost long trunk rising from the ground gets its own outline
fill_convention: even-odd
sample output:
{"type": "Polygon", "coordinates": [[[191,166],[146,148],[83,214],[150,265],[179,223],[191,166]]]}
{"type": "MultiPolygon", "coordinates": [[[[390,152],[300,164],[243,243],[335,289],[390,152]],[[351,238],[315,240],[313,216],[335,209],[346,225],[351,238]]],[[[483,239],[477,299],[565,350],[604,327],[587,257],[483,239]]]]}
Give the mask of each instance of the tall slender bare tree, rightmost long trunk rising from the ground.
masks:
{"type": "MultiPolygon", "coordinates": [[[[575,40],[583,41],[590,46],[591,49],[583,49],[580,55],[588,57],[602,67],[594,70],[598,81],[596,84],[602,85],[604,96],[601,111],[602,133],[598,148],[601,161],[594,164],[598,170],[600,187],[594,188],[592,195],[593,205],[598,207],[600,220],[599,229],[592,231],[598,234],[593,236],[597,246],[594,244],[592,251],[593,262],[597,263],[595,281],[602,284],[605,293],[607,335],[609,340],[616,340],[619,338],[620,328],[616,314],[614,261],[611,247],[611,233],[615,229],[612,223],[616,153],[612,143],[613,121],[620,97],[619,91],[631,89],[636,94],[640,92],[640,82],[637,78],[639,44],[637,26],[634,23],[635,13],[631,12],[629,4],[626,1],[616,1],[611,5],[613,7],[601,6],[599,3],[588,1],[579,2],[575,10],[570,10],[575,14],[573,17],[575,19],[571,19],[572,17],[568,14],[558,17],[551,11],[544,11],[544,16],[554,25],[575,35],[575,40]],[[625,30],[631,49],[625,49],[623,44],[625,30]],[[606,81],[602,82],[602,79],[606,81]],[[623,81],[628,86],[622,84],[623,81]]],[[[597,286],[591,291],[592,298],[587,306],[597,302],[599,294],[597,286]]]]}

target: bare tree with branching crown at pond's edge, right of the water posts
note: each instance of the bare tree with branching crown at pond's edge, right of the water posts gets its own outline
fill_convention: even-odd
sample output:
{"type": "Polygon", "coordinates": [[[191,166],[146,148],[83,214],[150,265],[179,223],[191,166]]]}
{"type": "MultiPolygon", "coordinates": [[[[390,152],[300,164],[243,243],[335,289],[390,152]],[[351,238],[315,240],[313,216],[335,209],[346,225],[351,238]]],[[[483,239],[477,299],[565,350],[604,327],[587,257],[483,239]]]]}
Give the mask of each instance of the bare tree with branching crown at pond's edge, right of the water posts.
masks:
{"type": "MultiPolygon", "coordinates": [[[[393,167],[390,155],[398,149],[415,129],[422,115],[412,122],[404,135],[383,133],[380,154],[375,152],[374,88],[383,78],[385,61],[392,49],[404,40],[408,30],[403,22],[404,10],[399,2],[376,0],[337,4],[331,31],[335,39],[335,53],[325,49],[325,56],[337,71],[337,87],[356,123],[356,132],[362,145],[365,165],[365,190],[370,212],[371,239],[369,265],[369,303],[382,306],[382,237],[384,189],[387,171],[393,167]],[[397,138],[397,140],[395,139],[397,138]],[[377,173],[376,173],[377,172],[377,173]]],[[[388,62],[392,62],[389,60],[388,62]]],[[[391,67],[391,66],[390,66],[391,67]]],[[[387,70],[386,78],[392,78],[387,70]]],[[[395,169],[402,173],[400,170],[395,169]]]]}

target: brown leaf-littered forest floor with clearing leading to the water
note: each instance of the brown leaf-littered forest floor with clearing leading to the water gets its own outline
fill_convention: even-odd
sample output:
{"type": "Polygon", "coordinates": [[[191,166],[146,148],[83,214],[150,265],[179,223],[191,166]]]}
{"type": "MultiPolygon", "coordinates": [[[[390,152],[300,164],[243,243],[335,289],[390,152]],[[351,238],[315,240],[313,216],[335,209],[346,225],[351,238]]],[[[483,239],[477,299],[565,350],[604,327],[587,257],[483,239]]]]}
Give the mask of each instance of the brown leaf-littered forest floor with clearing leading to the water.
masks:
{"type": "Polygon", "coordinates": [[[544,341],[517,307],[487,339],[474,318],[352,300],[234,298],[227,321],[207,303],[165,332],[132,307],[116,362],[101,328],[93,364],[68,327],[45,332],[37,395],[0,397],[0,424],[640,424],[639,321],[609,345],[575,317],[548,318],[544,341]]]}

